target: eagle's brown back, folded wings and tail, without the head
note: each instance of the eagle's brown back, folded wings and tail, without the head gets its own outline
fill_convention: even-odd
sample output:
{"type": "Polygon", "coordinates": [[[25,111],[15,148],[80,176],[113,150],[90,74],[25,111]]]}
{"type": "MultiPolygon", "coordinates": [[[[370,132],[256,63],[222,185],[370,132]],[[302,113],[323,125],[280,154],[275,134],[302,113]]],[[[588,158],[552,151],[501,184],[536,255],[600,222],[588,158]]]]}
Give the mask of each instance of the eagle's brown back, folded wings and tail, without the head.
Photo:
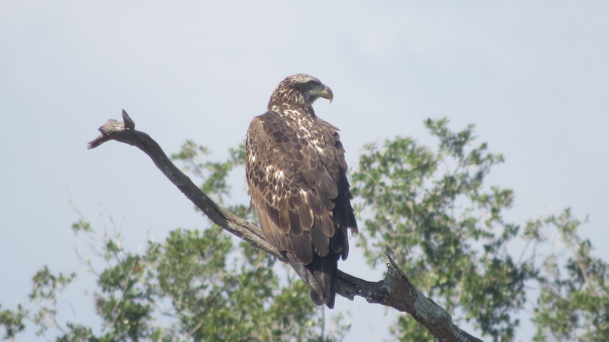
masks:
{"type": "Polygon", "coordinates": [[[334,211],[337,203],[343,206],[337,200],[340,190],[348,195],[348,183],[336,128],[321,127],[326,129],[304,139],[276,113],[255,117],[246,175],[266,239],[289,252],[315,304],[333,307],[337,260],[348,251],[347,226],[334,211]]]}

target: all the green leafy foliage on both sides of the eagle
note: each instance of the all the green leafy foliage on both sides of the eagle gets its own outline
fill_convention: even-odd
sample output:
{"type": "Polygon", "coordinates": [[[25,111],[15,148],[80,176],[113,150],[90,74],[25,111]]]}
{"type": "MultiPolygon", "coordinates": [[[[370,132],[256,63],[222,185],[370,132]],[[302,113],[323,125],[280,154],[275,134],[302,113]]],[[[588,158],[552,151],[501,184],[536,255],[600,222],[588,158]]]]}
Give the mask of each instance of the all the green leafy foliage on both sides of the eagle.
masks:
{"type": "MultiPolygon", "coordinates": [[[[370,267],[389,251],[423,293],[493,341],[515,340],[527,303],[535,341],[609,340],[607,263],[578,235],[583,222],[569,209],[524,225],[507,222],[512,190],[485,183],[502,156],[474,144],[473,126],[451,131],[446,119],[425,125],[437,146],[387,139],[368,144],[352,168],[359,245],[370,267]]],[[[254,222],[247,204],[231,197],[243,150],[211,161],[208,148],[187,141],[173,158],[203,192],[254,222]]],[[[101,325],[57,318],[58,298],[79,274],[44,266],[32,278],[29,302],[0,307],[4,339],[27,326],[56,341],[337,341],[349,329],[340,316],[326,327],[304,282],[217,226],[174,229],[137,251],[84,218],[72,229],[97,243],[93,258],[103,261],[94,267],[83,257],[96,279],[91,310],[101,325]]],[[[407,315],[391,332],[404,341],[432,340],[407,315]]]]}

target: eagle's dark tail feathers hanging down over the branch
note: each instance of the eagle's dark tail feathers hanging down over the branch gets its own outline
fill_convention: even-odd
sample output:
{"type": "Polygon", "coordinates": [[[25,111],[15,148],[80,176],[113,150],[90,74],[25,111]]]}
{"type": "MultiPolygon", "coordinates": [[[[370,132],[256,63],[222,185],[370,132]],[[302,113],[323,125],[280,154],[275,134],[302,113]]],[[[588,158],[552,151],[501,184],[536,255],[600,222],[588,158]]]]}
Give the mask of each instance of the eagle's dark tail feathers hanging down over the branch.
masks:
{"type": "Polygon", "coordinates": [[[306,282],[314,304],[317,306],[326,304],[329,309],[333,309],[339,256],[332,252],[325,257],[313,253],[311,263],[304,265],[291,253],[286,254],[292,268],[306,282]]]}

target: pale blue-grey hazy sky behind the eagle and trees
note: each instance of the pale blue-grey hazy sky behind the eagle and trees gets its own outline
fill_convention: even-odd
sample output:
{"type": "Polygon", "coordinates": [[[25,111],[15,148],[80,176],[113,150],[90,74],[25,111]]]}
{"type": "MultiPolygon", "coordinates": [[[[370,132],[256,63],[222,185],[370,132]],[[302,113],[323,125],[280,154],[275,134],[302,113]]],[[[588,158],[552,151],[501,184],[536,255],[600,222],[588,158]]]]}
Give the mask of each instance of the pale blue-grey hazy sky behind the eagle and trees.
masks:
{"type": "MultiPolygon", "coordinates": [[[[333,103],[315,108],[340,127],[351,166],[367,142],[400,134],[431,143],[428,117],[448,116],[454,130],[476,124],[479,141],[505,155],[489,180],[515,190],[510,219],[571,206],[590,215],[583,233],[603,246],[608,36],[607,1],[2,1],[0,304],[26,302],[43,264],[85,269],[70,199],[96,229],[113,217],[130,250],[148,229],[163,240],[206,226],[144,153],[116,142],[86,150],[108,118],[124,108],[167,153],[188,138],[222,158],[296,73],[333,89],[333,103]]],[[[378,279],[382,270],[357,267],[358,254],[339,267],[378,279]]],[[[94,324],[88,285],[63,299],[94,324]]],[[[389,337],[379,305],[336,306],[351,315],[347,340],[389,337]]]]}

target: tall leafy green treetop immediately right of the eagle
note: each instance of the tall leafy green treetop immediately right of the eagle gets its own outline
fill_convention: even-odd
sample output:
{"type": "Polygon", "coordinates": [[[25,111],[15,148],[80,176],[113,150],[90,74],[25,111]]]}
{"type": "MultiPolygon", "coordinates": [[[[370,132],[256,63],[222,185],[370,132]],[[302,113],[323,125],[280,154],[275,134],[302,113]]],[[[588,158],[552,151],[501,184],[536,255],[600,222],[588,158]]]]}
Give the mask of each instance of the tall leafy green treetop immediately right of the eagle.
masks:
{"type": "MultiPolygon", "coordinates": [[[[487,144],[471,148],[473,127],[452,132],[447,120],[428,120],[437,151],[410,138],[367,145],[353,175],[364,203],[368,236],[362,236],[371,265],[389,249],[414,284],[449,312],[493,340],[510,341],[526,299],[524,284],[535,277],[528,261],[513,260],[507,243],[519,226],[502,211],[512,190],[483,186],[491,167],[503,161],[487,144]]],[[[404,340],[430,340],[407,316],[395,327],[404,340]]]]}

